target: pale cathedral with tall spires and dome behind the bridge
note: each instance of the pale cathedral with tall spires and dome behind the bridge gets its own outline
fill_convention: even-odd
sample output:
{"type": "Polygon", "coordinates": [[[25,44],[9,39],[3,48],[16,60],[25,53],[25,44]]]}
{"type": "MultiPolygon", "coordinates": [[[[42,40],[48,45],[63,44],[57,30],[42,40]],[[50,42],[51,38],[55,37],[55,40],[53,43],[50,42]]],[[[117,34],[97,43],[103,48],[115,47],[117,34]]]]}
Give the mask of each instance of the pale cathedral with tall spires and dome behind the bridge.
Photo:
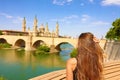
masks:
{"type": "Polygon", "coordinates": [[[38,28],[38,20],[35,17],[34,19],[34,23],[33,23],[33,29],[30,30],[30,28],[28,28],[28,30],[26,30],[26,19],[23,19],[22,22],[22,32],[28,32],[29,35],[31,36],[41,36],[41,37],[59,37],[59,24],[58,22],[56,23],[56,29],[52,32],[49,31],[49,27],[48,27],[48,23],[46,23],[46,25],[44,26],[43,24],[40,25],[40,27],[38,28]]]}

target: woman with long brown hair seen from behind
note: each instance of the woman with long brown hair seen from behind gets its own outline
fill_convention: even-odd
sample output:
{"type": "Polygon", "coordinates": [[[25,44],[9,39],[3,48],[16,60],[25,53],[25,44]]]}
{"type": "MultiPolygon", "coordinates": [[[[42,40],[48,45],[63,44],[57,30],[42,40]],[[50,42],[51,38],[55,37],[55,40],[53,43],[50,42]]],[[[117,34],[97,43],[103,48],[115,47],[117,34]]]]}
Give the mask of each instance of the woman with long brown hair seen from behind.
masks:
{"type": "Polygon", "coordinates": [[[67,61],[67,80],[102,80],[103,51],[98,42],[90,32],[79,36],[77,56],[67,61]]]}

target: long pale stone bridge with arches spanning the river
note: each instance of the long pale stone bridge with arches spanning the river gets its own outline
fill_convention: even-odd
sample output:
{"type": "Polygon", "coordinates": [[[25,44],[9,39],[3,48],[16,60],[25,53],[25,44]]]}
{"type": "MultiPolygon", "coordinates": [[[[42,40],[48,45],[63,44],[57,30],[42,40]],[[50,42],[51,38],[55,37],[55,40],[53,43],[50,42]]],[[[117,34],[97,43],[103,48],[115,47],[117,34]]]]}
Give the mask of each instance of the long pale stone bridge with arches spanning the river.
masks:
{"type": "Polygon", "coordinates": [[[54,45],[55,48],[59,50],[60,45],[64,43],[71,44],[75,48],[77,45],[77,39],[0,35],[0,43],[9,43],[13,48],[24,47],[25,50],[33,50],[41,44],[45,44],[49,47],[54,45]]]}

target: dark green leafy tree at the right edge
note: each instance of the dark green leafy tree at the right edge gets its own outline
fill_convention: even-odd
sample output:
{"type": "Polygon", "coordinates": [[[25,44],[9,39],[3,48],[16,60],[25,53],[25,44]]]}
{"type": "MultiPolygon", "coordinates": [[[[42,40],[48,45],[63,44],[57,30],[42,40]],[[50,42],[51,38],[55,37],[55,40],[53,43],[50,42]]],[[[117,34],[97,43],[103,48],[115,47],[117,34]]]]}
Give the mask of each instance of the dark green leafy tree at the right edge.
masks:
{"type": "Polygon", "coordinates": [[[105,37],[109,40],[120,40],[120,18],[116,19],[112,26],[105,37]]]}

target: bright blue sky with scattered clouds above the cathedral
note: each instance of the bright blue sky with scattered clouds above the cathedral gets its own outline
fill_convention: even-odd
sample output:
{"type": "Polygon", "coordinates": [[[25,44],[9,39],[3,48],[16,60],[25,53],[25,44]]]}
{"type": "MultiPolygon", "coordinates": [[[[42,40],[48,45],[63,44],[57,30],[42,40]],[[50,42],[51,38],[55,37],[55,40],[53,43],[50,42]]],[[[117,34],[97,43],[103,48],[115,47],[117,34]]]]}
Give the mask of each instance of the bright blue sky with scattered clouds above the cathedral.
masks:
{"type": "Polygon", "coordinates": [[[61,36],[91,32],[102,38],[120,18],[120,0],[0,0],[0,30],[21,31],[25,17],[32,31],[35,16],[38,28],[48,23],[50,32],[58,22],[61,36]]]}

